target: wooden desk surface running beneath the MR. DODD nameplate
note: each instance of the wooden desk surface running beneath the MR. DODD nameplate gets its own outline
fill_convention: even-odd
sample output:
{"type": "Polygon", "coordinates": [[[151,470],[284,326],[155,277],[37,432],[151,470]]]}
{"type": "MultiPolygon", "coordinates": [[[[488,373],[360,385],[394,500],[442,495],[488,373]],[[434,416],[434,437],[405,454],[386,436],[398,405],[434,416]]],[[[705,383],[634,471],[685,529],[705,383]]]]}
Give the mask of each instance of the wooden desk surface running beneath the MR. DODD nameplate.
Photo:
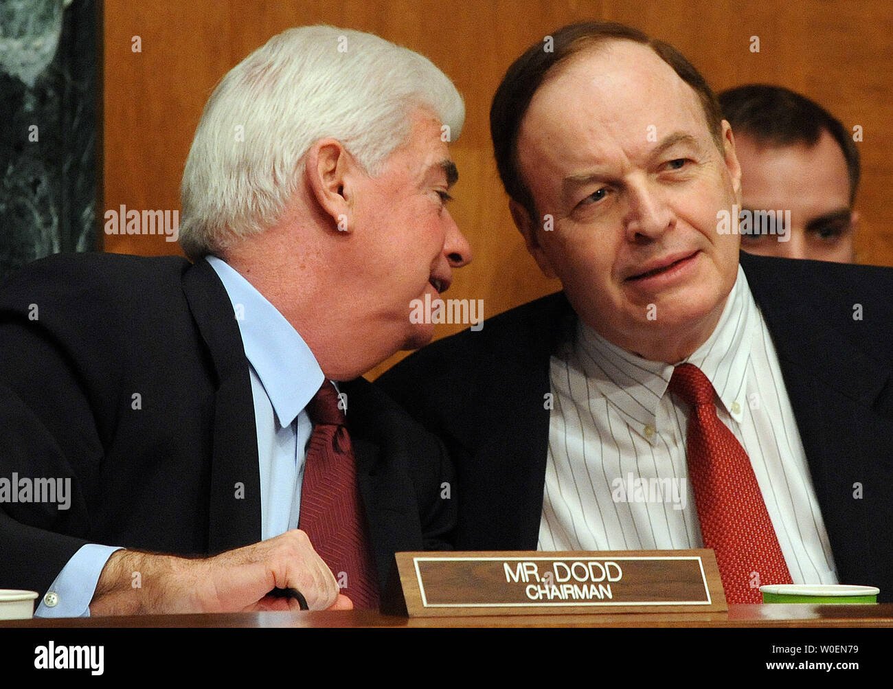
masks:
{"type": "Polygon", "coordinates": [[[728,613],[400,618],[371,610],[33,618],[0,627],[893,627],[893,604],[730,605],[728,613]]]}

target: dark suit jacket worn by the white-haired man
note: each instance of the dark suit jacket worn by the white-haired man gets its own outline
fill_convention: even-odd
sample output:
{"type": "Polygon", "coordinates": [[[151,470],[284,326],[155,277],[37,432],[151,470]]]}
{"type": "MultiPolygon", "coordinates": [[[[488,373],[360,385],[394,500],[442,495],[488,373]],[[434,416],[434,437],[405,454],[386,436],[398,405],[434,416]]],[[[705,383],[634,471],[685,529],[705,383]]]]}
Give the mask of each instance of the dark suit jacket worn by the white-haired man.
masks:
{"type": "MultiPolygon", "coordinates": [[[[452,469],[380,390],[341,390],[383,584],[394,552],[446,547],[452,469]]],[[[13,472],[71,477],[71,508],[0,504],[0,587],[46,591],[86,543],[208,554],[261,540],[248,363],[206,261],[54,256],[4,286],[0,477],[13,472]]]]}

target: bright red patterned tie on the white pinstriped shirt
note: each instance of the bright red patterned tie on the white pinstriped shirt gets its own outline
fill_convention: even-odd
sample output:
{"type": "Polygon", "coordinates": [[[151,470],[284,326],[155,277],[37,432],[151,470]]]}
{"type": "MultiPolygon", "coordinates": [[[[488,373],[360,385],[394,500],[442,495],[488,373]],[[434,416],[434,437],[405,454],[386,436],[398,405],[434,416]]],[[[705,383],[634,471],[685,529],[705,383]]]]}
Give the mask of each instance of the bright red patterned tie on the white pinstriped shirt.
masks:
{"type": "Polygon", "coordinates": [[[754,468],[738,439],[716,416],[714,386],[701,369],[690,363],[677,366],[668,389],[694,405],[689,415],[689,479],[704,543],[716,552],[726,600],[761,602],[758,586],[791,580],[754,468]]]}

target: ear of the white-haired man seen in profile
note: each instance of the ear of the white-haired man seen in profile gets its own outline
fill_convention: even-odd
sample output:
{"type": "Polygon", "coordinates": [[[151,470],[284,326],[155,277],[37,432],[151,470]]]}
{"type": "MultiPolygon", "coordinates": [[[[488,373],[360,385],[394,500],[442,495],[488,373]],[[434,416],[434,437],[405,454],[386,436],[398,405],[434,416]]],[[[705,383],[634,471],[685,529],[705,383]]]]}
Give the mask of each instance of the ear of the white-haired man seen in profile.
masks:
{"type": "Polygon", "coordinates": [[[305,156],[307,185],[321,211],[330,216],[333,228],[340,232],[353,230],[353,181],[359,173],[359,166],[338,139],[320,139],[305,156]]]}

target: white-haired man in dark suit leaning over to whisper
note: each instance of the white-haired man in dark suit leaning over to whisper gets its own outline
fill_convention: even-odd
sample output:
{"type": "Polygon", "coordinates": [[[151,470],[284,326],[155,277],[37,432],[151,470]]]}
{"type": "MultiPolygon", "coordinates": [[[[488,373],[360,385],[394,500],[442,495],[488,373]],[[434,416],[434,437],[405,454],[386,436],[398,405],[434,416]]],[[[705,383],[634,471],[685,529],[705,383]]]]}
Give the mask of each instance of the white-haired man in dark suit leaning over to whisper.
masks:
{"type": "Polygon", "coordinates": [[[346,608],[446,547],[442,445],[358,377],[430,340],[411,301],[470,260],[444,208],[462,120],[421,55],[290,29],[205,107],[194,264],[58,256],[4,286],[0,587],[63,617],[346,608]]]}

